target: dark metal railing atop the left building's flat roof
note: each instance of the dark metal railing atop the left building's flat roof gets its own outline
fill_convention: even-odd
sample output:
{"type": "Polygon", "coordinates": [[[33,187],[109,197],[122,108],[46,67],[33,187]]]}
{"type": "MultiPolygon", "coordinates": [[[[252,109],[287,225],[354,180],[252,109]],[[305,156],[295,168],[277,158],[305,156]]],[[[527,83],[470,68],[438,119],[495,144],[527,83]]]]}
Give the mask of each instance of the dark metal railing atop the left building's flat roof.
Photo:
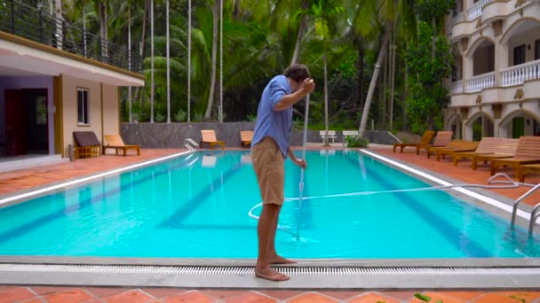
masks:
{"type": "Polygon", "coordinates": [[[142,62],[136,53],[19,1],[0,0],[0,31],[125,70],[141,71],[142,62]]]}

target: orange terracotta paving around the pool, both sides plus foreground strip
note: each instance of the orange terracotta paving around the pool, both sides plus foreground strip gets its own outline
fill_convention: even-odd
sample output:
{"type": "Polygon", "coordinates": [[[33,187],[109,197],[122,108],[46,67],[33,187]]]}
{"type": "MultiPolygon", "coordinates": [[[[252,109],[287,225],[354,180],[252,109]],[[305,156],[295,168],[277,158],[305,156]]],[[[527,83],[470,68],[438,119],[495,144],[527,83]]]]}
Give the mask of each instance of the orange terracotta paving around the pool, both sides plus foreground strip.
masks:
{"type": "MultiPolygon", "coordinates": [[[[387,148],[373,148],[381,154],[403,162],[425,167],[443,175],[449,175],[464,183],[485,184],[489,177],[487,167],[471,169],[470,162],[462,162],[453,167],[449,160],[426,159],[425,154],[417,156],[413,150],[393,153],[387,148]]],[[[47,167],[20,170],[0,174],[0,194],[26,190],[47,183],[55,183],[82,175],[95,174],[104,170],[124,167],[133,163],[155,159],[183,150],[143,150],[141,156],[117,157],[107,155],[97,159],[80,159],[47,167]]],[[[512,176],[512,174],[509,174],[512,176]]],[[[527,176],[528,183],[540,183],[540,175],[527,176]]],[[[494,190],[508,198],[517,198],[527,188],[494,190]]],[[[527,201],[538,201],[540,193],[527,201]]],[[[539,286],[540,288],[540,286],[539,286]]],[[[454,302],[534,302],[540,303],[540,291],[229,291],[229,290],[184,290],[169,288],[109,288],[109,287],[44,287],[31,285],[0,285],[0,303],[4,302],[422,302],[415,298],[422,293],[432,298],[454,302]]]]}

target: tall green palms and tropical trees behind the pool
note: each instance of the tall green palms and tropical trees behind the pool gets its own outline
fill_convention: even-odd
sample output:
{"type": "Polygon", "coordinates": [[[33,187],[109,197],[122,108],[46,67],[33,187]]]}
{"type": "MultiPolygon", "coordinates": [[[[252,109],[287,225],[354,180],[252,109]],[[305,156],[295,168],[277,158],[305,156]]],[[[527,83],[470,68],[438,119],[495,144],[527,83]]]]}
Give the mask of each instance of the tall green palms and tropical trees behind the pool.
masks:
{"type": "MultiPolygon", "coordinates": [[[[133,120],[150,120],[154,72],[154,120],[159,122],[167,120],[166,11],[164,0],[154,0],[152,71],[151,1],[63,0],[61,15],[93,35],[142,54],[147,85],[133,89],[133,120]]],[[[252,119],[266,83],[294,61],[309,66],[316,82],[309,117],[314,128],[407,128],[436,106],[440,110],[448,99],[441,79],[448,76],[450,49],[442,36],[433,40],[433,33],[441,32],[451,1],[223,0],[222,45],[215,38],[220,23],[214,1],[191,1],[191,66],[187,66],[187,0],[170,1],[172,121],[187,120],[188,69],[191,120],[218,120],[220,92],[226,121],[252,119]],[[419,53],[421,47],[432,50],[433,42],[440,58],[436,62],[419,53]],[[418,70],[422,64],[431,67],[418,70]],[[431,95],[418,97],[422,87],[431,85],[425,79],[433,73],[436,83],[431,95]]],[[[60,1],[36,2],[36,6],[48,11],[55,2],[60,1]]],[[[123,120],[128,120],[127,88],[122,98],[123,120]]],[[[303,107],[303,102],[295,105],[296,120],[303,120],[303,107]]]]}

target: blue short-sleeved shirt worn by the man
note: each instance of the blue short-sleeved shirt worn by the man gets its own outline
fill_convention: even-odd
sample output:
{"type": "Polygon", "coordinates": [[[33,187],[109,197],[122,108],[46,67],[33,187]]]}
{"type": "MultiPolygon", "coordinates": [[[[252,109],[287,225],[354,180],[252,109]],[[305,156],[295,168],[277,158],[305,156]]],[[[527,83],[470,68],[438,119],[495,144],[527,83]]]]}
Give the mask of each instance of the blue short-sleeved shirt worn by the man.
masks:
{"type": "Polygon", "coordinates": [[[290,95],[292,89],[284,75],[278,75],[266,85],[258,104],[257,122],[253,132],[251,146],[261,142],[265,136],[270,136],[282,151],[283,158],[287,158],[289,149],[289,135],[292,127],[292,106],[280,112],[274,111],[274,105],[283,96],[290,95]]]}

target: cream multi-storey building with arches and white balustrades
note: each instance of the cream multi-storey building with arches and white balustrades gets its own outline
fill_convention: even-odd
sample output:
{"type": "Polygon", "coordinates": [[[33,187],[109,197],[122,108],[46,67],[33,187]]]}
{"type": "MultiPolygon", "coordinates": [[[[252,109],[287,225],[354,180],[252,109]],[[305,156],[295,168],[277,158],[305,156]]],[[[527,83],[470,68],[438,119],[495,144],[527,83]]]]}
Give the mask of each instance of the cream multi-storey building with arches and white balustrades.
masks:
{"type": "Polygon", "coordinates": [[[456,137],[540,135],[540,0],[457,0],[445,127],[456,137]]]}

